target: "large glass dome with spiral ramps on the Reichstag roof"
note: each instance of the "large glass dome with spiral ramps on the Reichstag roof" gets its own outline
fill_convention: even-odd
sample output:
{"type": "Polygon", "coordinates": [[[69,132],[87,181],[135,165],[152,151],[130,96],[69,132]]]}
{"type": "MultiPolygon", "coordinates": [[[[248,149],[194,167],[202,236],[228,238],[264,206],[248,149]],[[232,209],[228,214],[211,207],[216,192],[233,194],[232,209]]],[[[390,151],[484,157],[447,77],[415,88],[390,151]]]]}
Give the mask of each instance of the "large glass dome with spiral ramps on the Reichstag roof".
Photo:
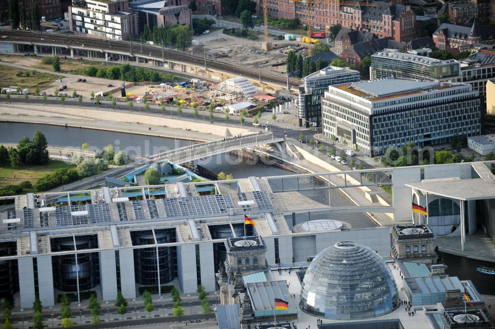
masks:
{"type": "Polygon", "coordinates": [[[301,285],[300,308],[328,319],[367,319],[395,310],[398,298],[392,272],[382,257],[346,241],[313,259],[301,285]]]}

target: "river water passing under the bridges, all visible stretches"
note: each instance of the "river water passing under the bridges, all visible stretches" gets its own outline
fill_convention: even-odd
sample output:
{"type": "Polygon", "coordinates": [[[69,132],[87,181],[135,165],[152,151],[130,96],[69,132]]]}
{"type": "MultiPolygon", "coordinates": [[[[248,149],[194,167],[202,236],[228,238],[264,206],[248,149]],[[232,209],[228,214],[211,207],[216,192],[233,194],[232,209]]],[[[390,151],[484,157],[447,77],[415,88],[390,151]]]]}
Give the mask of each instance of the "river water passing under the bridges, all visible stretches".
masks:
{"type": "MultiPolygon", "coordinates": [[[[39,129],[47,137],[49,145],[62,147],[80,147],[87,142],[93,148],[101,149],[108,144],[114,146],[115,151],[125,150],[129,155],[153,154],[160,150],[173,149],[176,146],[189,144],[188,141],[174,140],[159,137],[149,137],[144,135],[132,135],[125,133],[114,133],[99,130],[65,128],[61,126],[36,125],[24,123],[3,123],[0,122],[0,143],[17,143],[22,137],[32,138],[34,132],[39,129]]],[[[247,178],[249,176],[264,177],[289,175],[291,172],[264,163],[252,163],[250,160],[238,158],[232,154],[221,154],[207,158],[199,164],[213,172],[221,171],[232,174],[234,178],[247,178]]],[[[277,184],[274,182],[273,184],[277,184]]],[[[321,182],[315,182],[321,184],[321,182]]],[[[309,190],[301,192],[304,196],[321,203],[328,204],[328,190],[309,190]]],[[[332,206],[349,206],[352,203],[340,191],[332,190],[332,206]]],[[[333,214],[327,212],[311,214],[311,220],[315,219],[336,219],[345,222],[352,222],[354,228],[365,228],[376,226],[368,216],[360,213],[353,214],[333,214]]],[[[296,225],[307,221],[308,214],[298,214],[296,225]]],[[[289,228],[292,227],[292,217],[287,216],[286,222],[289,228]]],[[[478,291],[483,294],[495,294],[495,276],[489,276],[476,272],[478,266],[491,266],[495,264],[483,263],[463,257],[443,254],[443,259],[448,266],[447,273],[457,276],[461,280],[469,279],[473,281],[478,291]]]]}

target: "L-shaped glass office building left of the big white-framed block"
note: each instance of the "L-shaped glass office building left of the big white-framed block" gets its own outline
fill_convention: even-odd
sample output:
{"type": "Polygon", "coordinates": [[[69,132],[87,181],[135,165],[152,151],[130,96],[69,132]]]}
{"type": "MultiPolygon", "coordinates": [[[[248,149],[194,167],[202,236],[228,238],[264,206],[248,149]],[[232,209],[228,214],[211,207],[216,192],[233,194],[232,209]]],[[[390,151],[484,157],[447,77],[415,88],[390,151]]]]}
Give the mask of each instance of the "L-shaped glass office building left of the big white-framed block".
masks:
{"type": "Polygon", "coordinates": [[[360,80],[359,71],[348,67],[327,66],[302,79],[299,86],[299,127],[321,126],[320,98],[328,86],[360,80]]]}

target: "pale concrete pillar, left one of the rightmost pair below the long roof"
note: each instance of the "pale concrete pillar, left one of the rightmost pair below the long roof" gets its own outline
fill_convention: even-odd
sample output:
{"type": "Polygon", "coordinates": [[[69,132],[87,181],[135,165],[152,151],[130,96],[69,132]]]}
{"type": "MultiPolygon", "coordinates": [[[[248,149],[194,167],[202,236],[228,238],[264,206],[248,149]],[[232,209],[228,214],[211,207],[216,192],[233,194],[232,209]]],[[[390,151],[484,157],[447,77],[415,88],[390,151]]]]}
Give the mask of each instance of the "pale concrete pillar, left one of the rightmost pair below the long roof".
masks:
{"type": "Polygon", "coordinates": [[[196,248],[194,244],[177,246],[177,270],[183,293],[196,292],[196,248]]]}

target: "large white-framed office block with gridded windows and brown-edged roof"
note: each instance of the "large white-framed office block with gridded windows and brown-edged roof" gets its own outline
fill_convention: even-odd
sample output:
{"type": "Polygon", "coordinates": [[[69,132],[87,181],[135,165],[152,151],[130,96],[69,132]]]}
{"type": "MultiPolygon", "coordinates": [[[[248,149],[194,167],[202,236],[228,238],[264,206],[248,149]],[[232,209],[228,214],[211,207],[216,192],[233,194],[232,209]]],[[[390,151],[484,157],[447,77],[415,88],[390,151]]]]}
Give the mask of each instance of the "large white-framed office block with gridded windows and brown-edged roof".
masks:
{"type": "Polygon", "coordinates": [[[323,133],[376,156],[411,141],[447,143],[481,132],[480,99],[470,85],[382,79],[330,86],[321,99],[323,133]]]}

